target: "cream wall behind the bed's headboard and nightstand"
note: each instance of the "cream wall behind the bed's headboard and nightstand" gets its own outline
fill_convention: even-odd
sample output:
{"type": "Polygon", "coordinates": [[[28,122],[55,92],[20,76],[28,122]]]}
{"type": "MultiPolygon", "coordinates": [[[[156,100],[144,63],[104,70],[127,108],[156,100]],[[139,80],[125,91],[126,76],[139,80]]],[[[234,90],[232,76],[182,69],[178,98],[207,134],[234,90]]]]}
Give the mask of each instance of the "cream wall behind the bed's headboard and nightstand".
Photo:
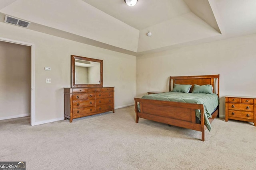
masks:
{"type": "Polygon", "coordinates": [[[220,74],[224,96],[256,96],[256,34],[204,43],[136,58],[136,96],[168,91],[169,76],[220,74]]]}

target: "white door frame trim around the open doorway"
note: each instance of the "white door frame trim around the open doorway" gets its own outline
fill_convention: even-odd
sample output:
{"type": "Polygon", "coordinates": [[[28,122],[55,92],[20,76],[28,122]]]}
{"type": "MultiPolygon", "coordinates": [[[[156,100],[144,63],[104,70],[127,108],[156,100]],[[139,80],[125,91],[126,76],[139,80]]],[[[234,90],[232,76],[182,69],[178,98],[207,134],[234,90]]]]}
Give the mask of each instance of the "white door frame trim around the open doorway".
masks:
{"type": "Polygon", "coordinates": [[[8,43],[14,43],[14,44],[20,44],[20,45],[26,45],[30,46],[30,86],[31,86],[31,92],[30,92],[30,125],[35,125],[35,44],[33,43],[27,43],[23,41],[18,41],[14,39],[7,39],[0,37],[0,41],[8,42],[8,43]]]}

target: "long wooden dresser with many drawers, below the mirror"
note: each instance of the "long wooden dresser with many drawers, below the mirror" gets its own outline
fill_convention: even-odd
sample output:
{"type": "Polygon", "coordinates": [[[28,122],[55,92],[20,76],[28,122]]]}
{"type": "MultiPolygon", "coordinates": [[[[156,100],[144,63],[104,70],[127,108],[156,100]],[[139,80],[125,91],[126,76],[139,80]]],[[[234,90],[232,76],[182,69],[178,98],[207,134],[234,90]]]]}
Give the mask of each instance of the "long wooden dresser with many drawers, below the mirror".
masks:
{"type": "Polygon", "coordinates": [[[64,88],[64,119],[115,112],[114,87],[64,88]]]}

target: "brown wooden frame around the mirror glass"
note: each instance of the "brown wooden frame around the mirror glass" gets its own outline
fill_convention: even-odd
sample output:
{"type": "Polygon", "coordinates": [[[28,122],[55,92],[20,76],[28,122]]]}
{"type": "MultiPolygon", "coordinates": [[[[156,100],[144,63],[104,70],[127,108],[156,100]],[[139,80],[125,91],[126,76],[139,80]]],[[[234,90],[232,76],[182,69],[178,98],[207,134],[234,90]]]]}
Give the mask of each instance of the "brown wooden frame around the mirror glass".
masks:
{"type": "Polygon", "coordinates": [[[78,88],[79,87],[103,87],[103,60],[71,55],[71,86],[73,88],[76,88],[76,87],[78,87],[78,88]],[[75,81],[75,60],[76,59],[100,63],[100,84],[76,84],[76,81],[75,81]]]}

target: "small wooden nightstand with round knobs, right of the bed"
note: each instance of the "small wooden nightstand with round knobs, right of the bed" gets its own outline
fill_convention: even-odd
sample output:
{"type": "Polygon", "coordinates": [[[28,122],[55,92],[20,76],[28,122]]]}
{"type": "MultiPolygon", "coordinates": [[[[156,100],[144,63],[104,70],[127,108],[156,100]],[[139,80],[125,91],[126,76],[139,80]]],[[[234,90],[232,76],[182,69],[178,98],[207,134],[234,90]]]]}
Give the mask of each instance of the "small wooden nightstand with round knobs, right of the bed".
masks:
{"type": "Polygon", "coordinates": [[[228,119],[253,122],[256,126],[256,98],[225,96],[225,121],[228,119]]]}

